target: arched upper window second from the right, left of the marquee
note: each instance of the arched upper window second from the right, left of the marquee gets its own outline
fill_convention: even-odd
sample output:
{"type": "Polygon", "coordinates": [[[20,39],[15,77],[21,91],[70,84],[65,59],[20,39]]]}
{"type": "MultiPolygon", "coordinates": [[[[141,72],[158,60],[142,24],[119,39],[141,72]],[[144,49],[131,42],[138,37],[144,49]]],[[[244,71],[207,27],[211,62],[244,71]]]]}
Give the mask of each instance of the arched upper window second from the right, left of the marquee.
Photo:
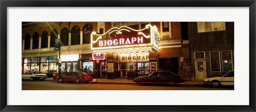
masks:
{"type": "Polygon", "coordinates": [[[80,28],[78,26],[74,26],[71,31],[71,45],[80,44],[80,28]]]}

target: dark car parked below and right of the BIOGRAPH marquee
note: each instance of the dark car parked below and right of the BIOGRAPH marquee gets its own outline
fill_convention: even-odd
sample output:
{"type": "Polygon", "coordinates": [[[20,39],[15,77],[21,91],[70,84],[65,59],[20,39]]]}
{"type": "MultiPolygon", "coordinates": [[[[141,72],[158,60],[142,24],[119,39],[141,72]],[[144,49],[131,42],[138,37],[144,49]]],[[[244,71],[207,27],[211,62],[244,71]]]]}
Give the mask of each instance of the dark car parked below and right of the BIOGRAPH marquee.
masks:
{"type": "Polygon", "coordinates": [[[140,76],[133,80],[141,85],[147,84],[168,84],[173,86],[177,83],[183,83],[183,80],[180,75],[176,75],[171,71],[154,71],[148,76],[140,76]]]}

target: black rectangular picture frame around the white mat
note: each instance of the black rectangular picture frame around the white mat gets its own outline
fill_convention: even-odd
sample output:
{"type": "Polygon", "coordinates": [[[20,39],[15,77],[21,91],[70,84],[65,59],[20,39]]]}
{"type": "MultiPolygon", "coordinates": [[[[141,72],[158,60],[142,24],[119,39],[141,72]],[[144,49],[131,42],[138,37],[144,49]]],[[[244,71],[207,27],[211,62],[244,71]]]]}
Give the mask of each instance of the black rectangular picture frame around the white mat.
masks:
{"type": "MultiPolygon", "coordinates": [[[[255,111],[255,0],[0,0],[1,4],[1,111],[255,111]],[[250,10],[250,101],[248,106],[14,106],[7,105],[7,7],[249,7],[250,10]]],[[[134,99],[138,101],[138,99],[134,99]]]]}

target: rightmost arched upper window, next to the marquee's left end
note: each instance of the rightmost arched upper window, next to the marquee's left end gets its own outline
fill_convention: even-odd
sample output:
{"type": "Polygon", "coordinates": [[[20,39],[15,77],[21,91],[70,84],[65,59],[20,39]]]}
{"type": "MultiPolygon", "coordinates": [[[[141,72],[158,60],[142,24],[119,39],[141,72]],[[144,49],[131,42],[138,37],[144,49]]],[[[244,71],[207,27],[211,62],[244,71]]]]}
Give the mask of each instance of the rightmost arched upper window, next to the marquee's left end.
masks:
{"type": "Polygon", "coordinates": [[[91,33],[93,27],[91,24],[86,24],[84,27],[84,36],[83,36],[83,44],[90,44],[91,43],[91,33]]]}

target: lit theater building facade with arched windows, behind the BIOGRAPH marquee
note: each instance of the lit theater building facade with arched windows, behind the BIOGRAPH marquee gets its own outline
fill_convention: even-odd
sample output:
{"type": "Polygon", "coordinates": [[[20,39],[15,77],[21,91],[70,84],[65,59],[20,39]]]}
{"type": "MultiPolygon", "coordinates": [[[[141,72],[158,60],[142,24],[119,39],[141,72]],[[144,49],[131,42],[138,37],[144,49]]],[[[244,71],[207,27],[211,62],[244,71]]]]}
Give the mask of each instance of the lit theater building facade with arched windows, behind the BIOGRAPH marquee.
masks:
{"type": "MultiPolygon", "coordinates": [[[[147,31],[143,33],[149,35],[147,31]]],[[[135,36],[129,31],[126,35],[127,37],[128,35],[135,36]]],[[[109,36],[109,38],[117,37],[118,35],[109,36]]],[[[118,49],[114,44],[108,44],[113,49],[118,49]]],[[[94,78],[133,79],[156,70],[171,70],[175,74],[183,74],[180,70],[182,68],[180,58],[183,57],[181,46],[181,22],[23,23],[22,73],[30,70],[43,71],[48,77],[52,77],[53,72],[61,71],[65,74],[70,71],[83,70],[87,66],[93,71],[94,78]],[[117,52],[117,50],[110,52],[110,49],[103,50],[104,52],[92,50],[91,34],[93,32],[97,35],[106,35],[110,29],[115,27],[127,26],[135,31],[145,29],[147,25],[157,28],[158,50],[143,47],[142,49],[145,48],[145,50],[142,51],[141,47],[134,46],[131,49],[137,50],[136,53],[117,52]],[[60,39],[60,52],[54,51],[55,39],[60,39]],[[99,55],[103,57],[99,58],[99,55]],[[61,62],[60,65],[59,62],[61,62]],[[102,71],[106,71],[106,74],[102,71]]]]}

